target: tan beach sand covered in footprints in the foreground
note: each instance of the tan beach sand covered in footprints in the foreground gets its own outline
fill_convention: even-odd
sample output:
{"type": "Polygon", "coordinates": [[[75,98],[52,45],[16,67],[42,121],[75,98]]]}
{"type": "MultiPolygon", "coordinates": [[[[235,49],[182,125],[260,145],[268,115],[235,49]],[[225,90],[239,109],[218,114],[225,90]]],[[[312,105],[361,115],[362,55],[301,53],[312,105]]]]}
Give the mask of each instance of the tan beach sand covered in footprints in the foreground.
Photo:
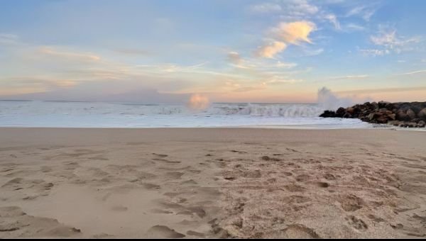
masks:
{"type": "Polygon", "coordinates": [[[425,237],[426,132],[0,128],[0,237],[425,237]]]}

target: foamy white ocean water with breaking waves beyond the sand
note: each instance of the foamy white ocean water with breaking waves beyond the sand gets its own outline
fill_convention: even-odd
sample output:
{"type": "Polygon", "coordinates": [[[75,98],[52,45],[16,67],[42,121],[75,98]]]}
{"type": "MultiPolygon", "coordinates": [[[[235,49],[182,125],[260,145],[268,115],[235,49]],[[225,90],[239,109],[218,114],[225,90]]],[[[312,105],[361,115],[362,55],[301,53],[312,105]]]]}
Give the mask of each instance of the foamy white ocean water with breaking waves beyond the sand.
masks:
{"type": "Polygon", "coordinates": [[[0,101],[0,127],[47,128],[372,128],[358,119],[320,118],[315,103],[184,104],[0,101]]]}

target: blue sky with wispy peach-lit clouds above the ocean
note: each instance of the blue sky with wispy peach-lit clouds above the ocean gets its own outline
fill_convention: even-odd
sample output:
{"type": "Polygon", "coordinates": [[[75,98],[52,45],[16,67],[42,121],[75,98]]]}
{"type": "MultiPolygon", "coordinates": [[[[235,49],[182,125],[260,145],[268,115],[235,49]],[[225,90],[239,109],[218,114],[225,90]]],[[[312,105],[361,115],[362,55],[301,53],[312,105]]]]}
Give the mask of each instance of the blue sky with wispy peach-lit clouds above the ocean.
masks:
{"type": "Polygon", "coordinates": [[[0,0],[0,99],[426,101],[423,0],[0,0]]]}

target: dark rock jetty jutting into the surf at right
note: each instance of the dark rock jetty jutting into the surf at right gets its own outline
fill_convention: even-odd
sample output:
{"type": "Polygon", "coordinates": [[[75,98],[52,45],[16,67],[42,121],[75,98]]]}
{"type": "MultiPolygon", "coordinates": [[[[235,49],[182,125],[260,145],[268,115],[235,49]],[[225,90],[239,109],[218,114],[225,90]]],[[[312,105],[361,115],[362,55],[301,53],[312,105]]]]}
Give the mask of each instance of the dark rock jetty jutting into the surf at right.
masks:
{"type": "Polygon", "coordinates": [[[368,123],[425,128],[426,102],[366,102],[337,111],[324,111],[324,118],[359,118],[368,123]]]}

